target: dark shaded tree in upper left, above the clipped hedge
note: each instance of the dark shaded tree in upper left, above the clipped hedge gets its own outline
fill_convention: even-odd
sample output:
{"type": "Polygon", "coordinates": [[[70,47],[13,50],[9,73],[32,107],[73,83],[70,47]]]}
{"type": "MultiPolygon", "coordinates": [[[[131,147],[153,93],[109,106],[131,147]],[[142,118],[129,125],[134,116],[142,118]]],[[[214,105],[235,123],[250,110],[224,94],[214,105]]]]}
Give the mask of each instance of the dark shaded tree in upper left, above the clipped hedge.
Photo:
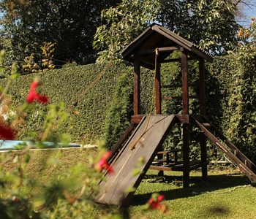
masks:
{"type": "Polygon", "coordinates": [[[97,53],[91,43],[97,26],[102,24],[100,12],[118,1],[3,0],[1,40],[10,39],[13,56],[19,61],[31,53],[42,60],[40,47],[47,42],[55,44],[57,65],[69,61],[93,63],[97,53]]]}

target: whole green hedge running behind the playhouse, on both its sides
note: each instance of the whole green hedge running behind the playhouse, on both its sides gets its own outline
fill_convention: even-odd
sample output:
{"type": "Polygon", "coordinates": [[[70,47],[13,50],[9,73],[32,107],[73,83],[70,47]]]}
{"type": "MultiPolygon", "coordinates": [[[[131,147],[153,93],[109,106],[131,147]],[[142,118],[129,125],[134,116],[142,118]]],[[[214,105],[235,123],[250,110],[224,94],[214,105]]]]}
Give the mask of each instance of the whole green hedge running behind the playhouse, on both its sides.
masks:
{"type": "MultiPolygon", "coordinates": [[[[175,54],[174,54],[175,55],[175,54]]],[[[176,58],[176,57],[174,57],[176,58]]],[[[231,140],[252,161],[256,161],[256,78],[255,58],[241,61],[236,55],[214,58],[213,64],[206,66],[206,110],[208,119],[231,140]]],[[[53,131],[53,136],[69,133],[72,142],[95,143],[97,139],[106,139],[108,147],[112,147],[126,130],[132,115],[132,80],[133,67],[124,61],[110,64],[91,64],[72,66],[51,70],[39,74],[28,74],[11,83],[8,93],[12,96],[12,110],[26,101],[31,81],[40,78],[38,91],[45,93],[50,104],[64,102],[65,110],[78,96],[78,115],[70,114],[67,123],[53,131]],[[102,72],[105,74],[94,82],[102,72]],[[93,83],[93,86],[90,85],[93,83]],[[86,93],[87,88],[90,88],[86,93]]],[[[162,84],[181,84],[180,64],[162,65],[162,84]]],[[[197,62],[189,62],[189,82],[198,80],[197,62]]],[[[141,113],[148,114],[151,107],[154,71],[141,71],[141,113]]],[[[2,86],[7,80],[0,80],[2,86]]],[[[197,88],[190,88],[190,95],[198,93],[197,88]]],[[[181,96],[181,88],[164,89],[162,96],[181,96]]],[[[180,113],[181,101],[163,101],[162,113],[180,113]]],[[[197,100],[190,100],[190,113],[198,113],[197,100]]],[[[43,131],[45,114],[48,107],[36,104],[34,110],[27,112],[26,123],[18,132],[18,139],[31,137],[30,131],[43,131]]],[[[154,113],[154,112],[153,112],[154,113]]],[[[192,130],[191,156],[197,158],[197,137],[192,130]]],[[[165,147],[181,147],[181,126],[177,125],[171,131],[171,136],[165,141],[165,147]]],[[[51,140],[50,137],[48,140],[51,140]]],[[[211,158],[222,158],[216,148],[208,143],[211,158]]]]}

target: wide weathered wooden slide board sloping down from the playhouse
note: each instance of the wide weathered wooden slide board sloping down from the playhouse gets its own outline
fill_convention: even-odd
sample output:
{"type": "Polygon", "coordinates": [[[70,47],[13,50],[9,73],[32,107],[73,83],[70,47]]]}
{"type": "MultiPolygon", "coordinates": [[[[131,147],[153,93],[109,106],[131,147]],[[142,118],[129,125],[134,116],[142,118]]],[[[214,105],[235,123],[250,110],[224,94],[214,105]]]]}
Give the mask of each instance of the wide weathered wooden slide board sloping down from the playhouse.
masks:
{"type": "Polygon", "coordinates": [[[148,115],[140,121],[113,160],[111,166],[114,173],[106,174],[105,181],[99,183],[100,191],[94,201],[119,207],[129,205],[135,189],[138,188],[168,131],[175,123],[175,118],[175,115],[148,115]],[[132,150],[131,146],[134,146],[132,150]],[[143,164],[139,164],[141,158],[144,160],[143,164]],[[138,174],[135,174],[135,170],[138,174]]]}

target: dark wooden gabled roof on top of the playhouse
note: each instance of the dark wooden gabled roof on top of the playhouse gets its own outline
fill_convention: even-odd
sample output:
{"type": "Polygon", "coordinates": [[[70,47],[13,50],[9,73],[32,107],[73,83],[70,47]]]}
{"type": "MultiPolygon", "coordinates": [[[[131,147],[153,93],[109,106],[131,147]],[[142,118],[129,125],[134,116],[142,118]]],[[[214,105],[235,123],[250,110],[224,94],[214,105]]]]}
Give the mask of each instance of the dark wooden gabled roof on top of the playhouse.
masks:
{"type": "Polygon", "coordinates": [[[133,63],[136,55],[139,55],[141,66],[154,69],[156,48],[159,49],[157,61],[160,63],[165,62],[165,58],[173,53],[173,50],[181,50],[181,48],[184,48],[192,58],[213,61],[211,54],[156,23],[148,26],[139,37],[122,50],[121,56],[124,60],[133,63]]]}

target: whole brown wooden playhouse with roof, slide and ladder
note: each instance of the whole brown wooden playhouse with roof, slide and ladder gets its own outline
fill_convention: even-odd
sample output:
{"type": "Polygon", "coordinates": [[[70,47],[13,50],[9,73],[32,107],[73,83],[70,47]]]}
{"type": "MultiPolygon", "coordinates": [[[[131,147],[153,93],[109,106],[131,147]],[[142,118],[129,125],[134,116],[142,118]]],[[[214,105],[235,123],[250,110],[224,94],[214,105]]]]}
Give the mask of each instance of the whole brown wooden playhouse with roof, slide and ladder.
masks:
{"type": "Polygon", "coordinates": [[[242,172],[256,183],[256,166],[241,153],[238,148],[223,136],[206,118],[205,96],[205,61],[213,61],[210,54],[197,45],[178,36],[172,31],[152,24],[126,49],[121,52],[124,60],[134,64],[134,93],[132,122],[127,131],[112,149],[111,166],[114,173],[106,174],[105,181],[99,183],[101,189],[94,201],[102,204],[115,204],[119,207],[129,205],[135,192],[130,188],[138,188],[148,169],[156,169],[159,174],[164,171],[183,172],[183,185],[189,187],[189,172],[200,168],[202,177],[207,177],[206,139],[221,150],[230,161],[233,161],[242,172]],[[179,50],[181,58],[168,59],[173,51],[179,50]],[[188,61],[194,59],[199,63],[199,82],[189,84],[188,61]],[[162,85],[161,63],[181,62],[182,96],[162,97],[162,88],[176,88],[177,85],[162,85]],[[155,69],[155,107],[156,115],[140,115],[140,66],[155,69]],[[198,96],[189,96],[189,86],[197,86],[198,96]],[[182,100],[182,113],[162,115],[162,101],[171,99],[182,100]],[[200,113],[189,115],[189,99],[198,99],[200,113]],[[183,145],[181,150],[162,150],[162,143],[174,124],[181,123],[183,129],[183,145]],[[196,126],[200,130],[200,160],[189,158],[189,127],[196,126]],[[182,153],[178,161],[177,153],[182,153]],[[173,154],[174,158],[170,159],[173,154]],[[138,160],[143,157],[144,163],[138,166],[138,160]],[[157,159],[156,159],[157,158],[157,159]],[[132,175],[134,169],[140,174],[132,175]]]}

